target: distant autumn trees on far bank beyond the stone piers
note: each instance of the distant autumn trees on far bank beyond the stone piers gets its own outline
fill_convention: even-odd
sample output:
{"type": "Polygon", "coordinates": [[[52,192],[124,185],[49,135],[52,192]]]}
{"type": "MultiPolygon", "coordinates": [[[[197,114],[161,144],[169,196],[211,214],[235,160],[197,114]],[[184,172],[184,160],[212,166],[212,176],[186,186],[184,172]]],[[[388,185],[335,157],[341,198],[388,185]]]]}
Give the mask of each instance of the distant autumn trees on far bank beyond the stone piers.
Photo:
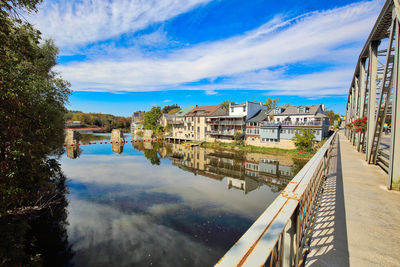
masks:
{"type": "Polygon", "coordinates": [[[101,127],[106,132],[112,129],[127,129],[131,125],[131,117],[114,116],[102,113],[84,113],[82,111],[68,111],[66,120],[80,121],[87,127],[101,127]]]}

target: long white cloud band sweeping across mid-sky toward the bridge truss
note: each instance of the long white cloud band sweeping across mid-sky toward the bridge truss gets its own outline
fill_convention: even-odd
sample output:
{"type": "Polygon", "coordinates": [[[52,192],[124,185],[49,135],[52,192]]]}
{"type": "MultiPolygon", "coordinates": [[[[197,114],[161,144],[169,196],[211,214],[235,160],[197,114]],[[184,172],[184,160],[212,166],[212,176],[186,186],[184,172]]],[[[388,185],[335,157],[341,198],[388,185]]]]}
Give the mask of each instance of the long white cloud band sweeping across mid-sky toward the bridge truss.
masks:
{"type": "Polygon", "coordinates": [[[244,88],[343,94],[381,4],[381,0],[364,1],[287,20],[276,17],[243,35],[173,50],[163,57],[136,51],[124,60],[71,63],[58,71],[81,91],[244,88]],[[336,67],[294,76],[282,68],[299,62],[336,67]],[[204,79],[207,85],[186,85],[204,79]]]}

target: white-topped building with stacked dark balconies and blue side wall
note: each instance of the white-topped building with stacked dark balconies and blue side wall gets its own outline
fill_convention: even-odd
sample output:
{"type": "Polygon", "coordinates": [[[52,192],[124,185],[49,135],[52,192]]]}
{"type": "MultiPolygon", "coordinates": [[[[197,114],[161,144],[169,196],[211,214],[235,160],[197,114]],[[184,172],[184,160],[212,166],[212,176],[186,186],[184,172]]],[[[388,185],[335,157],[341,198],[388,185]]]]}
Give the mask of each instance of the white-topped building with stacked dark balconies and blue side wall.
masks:
{"type": "Polygon", "coordinates": [[[225,116],[210,116],[207,124],[210,130],[207,132],[209,139],[215,141],[233,141],[235,134],[244,136],[246,120],[253,117],[260,110],[267,107],[262,103],[246,101],[244,104],[229,104],[229,114],[225,116]]]}

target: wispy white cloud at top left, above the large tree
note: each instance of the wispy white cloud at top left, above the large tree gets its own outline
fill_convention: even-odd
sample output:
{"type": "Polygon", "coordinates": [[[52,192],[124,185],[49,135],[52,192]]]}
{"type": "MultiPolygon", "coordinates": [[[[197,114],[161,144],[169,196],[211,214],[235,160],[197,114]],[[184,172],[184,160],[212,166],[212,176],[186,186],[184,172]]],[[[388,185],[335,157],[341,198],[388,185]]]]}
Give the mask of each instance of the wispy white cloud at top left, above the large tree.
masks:
{"type": "MultiPolygon", "coordinates": [[[[46,1],[29,16],[45,37],[57,45],[75,47],[133,33],[190,11],[210,0],[46,1]]],[[[159,36],[153,36],[159,38],[159,36]]],[[[151,38],[151,36],[149,36],[151,38]]],[[[152,42],[154,39],[147,39],[152,42]]]]}

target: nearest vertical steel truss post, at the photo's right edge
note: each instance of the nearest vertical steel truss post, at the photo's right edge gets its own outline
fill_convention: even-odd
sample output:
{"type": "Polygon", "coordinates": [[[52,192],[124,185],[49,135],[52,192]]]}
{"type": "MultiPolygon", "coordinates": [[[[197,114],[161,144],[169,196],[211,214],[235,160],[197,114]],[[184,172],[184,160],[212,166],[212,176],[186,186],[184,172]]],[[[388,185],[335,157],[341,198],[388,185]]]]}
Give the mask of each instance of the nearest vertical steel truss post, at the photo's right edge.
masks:
{"type": "MultiPolygon", "coordinates": [[[[396,6],[397,8],[397,6],[396,6]]],[[[392,97],[392,132],[391,146],[389,158],[389,178],[388,189],[400,189],[400,66],[399,66],[399,49],[400,49],[400,31],[399,18],[396,19],[396,41],[395,41],[395,61],[393,66],[394,88],[392,97]],[[397,139],[396,139],[397,138],[397,139]]]]}

